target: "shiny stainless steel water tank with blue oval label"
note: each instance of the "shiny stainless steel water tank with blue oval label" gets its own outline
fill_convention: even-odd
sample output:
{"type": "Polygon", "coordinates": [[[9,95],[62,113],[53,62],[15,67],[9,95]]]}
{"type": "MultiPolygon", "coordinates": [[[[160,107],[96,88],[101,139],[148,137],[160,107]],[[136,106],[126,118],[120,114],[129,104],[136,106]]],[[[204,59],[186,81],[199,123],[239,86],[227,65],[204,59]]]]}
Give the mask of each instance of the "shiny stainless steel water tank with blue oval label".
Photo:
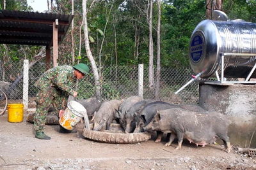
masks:
{"type": "MultiPolygon", "coordinates": [[[[203,20],[191,35],[189,62],[202,78],[221,71],[221,53],[256,53],[256,23],[243,20],[203,20]]],[[[246,78],[255,65],[256,56],[225,56],[224,76],[246,78]]],[[[256,71],[251,78],[256,78],[256,71]]]]}

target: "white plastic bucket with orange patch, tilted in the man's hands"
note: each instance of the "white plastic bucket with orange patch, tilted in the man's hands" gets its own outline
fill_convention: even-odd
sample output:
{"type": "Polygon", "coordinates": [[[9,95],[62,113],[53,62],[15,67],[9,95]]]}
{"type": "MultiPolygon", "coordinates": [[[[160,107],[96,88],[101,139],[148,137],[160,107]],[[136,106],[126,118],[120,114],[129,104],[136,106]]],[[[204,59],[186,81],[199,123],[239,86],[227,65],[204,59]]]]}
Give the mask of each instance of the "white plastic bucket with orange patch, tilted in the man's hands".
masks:
{"type": "Polygon", "coordinates": [[[63,115],[61,115],[59,123],[62,127],[71,131],[84,115],[87,115],[84,106],[76,101],[70,101],[63,115]]]}

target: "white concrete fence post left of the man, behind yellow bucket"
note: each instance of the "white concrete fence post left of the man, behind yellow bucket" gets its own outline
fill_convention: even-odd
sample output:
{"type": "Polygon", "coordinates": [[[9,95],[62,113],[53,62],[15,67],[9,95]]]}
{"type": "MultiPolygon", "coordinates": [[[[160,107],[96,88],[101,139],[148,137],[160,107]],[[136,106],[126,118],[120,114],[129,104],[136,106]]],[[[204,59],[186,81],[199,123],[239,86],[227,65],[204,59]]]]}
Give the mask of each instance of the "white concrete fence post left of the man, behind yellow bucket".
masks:
{"type": "Polygon", "coordinates": [[[23,63],[23,104],[24,104],[24,113],[28,111],[28,65],[29,61],[24,60],[23,63]]]}

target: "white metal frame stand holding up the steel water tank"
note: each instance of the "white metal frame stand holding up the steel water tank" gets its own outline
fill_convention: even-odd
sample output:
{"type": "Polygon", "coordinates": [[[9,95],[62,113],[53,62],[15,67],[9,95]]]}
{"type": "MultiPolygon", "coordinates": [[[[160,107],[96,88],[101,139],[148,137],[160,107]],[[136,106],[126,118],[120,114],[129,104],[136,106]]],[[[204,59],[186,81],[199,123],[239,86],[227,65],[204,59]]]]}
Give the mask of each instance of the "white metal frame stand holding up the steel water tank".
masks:
{"type": "Polygon", "coordinates": [[[218,74],[218,71],[215,71],[216,74],[216,78],[219,81],[218,83],[252,83],[255,84],[256,81],[249,81],[252,73],[255,71],[256,69],[256,63],[254,64],[252,70],[250,71],[250,73],[248,74],[248,76],[245,78],[244,81],[227,81],[227,78],[224,77],[224,65],[225,65],[225,60],[224,57],[227,55],[239,55],[239,56],[256,56],[256,53],[221,53],[221,78],[218,74]]]}

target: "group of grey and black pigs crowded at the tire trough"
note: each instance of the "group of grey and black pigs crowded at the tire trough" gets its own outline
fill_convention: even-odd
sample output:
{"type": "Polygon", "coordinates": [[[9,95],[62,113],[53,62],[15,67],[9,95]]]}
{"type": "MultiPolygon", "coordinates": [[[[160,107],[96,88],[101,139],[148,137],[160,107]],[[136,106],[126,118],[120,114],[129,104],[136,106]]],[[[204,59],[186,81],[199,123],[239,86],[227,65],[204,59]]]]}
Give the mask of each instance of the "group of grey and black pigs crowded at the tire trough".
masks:
{"type": "Polygon", "coordinates": [[[99,110],[96,109],[94,113],[86,108],[94,122],[93,131],[108,130],[111,123],[116,121],[126,133],[156,131],[156,142],[160,142],[166,132],[170,139],[165,146],[170,146],[177,138],[176,149],[181,148],[183,138],[203,147],[220,138],[225,146],[223,150],[228,153],[231,150],[227,117],[218,112],[205,111],[195,104],[170,104],[131,96],[124,101],[113,99],[98,103],[98,106],[99,110]]]}

